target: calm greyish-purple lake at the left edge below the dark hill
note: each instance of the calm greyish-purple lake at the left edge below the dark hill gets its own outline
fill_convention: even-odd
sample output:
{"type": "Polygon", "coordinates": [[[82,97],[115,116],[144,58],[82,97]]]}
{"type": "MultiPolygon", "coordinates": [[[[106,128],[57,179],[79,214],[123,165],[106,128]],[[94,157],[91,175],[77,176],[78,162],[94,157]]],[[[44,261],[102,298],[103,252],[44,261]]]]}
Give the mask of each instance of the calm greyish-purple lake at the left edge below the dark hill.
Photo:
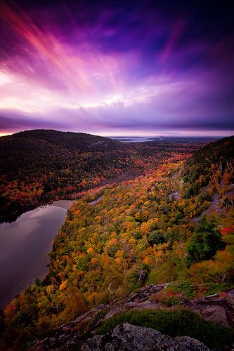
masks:
{"type": "Polygon", "coordinates": [[[0,308],[46,275],[52,241],[73,201],[56,201],[0,225],[0,308]]]}

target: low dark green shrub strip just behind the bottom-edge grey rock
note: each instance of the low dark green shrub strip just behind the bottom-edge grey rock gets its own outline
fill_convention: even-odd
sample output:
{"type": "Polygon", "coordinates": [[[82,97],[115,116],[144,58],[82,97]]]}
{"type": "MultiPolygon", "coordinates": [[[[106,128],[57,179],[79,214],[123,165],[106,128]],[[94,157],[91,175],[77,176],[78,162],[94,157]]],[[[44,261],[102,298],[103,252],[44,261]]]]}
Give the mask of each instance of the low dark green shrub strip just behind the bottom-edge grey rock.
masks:
{"type": "Polygon", "coordinates": [[[131,310],[117,314],[98,328],[98,334],[112,331],[119,323],[152,328],[160,333],[174,336],[190,336],[211,347],[224,350],[234,340],[234,331],[214,322],[207,322],[199,314],[180,308],[178,310],[131,310]]]}

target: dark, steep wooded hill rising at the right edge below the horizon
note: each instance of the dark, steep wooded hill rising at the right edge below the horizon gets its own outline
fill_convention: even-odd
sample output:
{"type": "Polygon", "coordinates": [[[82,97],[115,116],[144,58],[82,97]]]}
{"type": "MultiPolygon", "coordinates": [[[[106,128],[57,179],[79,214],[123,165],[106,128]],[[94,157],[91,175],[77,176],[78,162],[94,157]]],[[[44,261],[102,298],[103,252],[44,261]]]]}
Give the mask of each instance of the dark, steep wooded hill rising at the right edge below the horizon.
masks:
{"type": "Polygon", "coordinates": [[[234,137],[216,140],[195,152],[183,168],[185,197],[197,195],[201,189],[218,195],[223,206],[233,206],[234,137]]]}

